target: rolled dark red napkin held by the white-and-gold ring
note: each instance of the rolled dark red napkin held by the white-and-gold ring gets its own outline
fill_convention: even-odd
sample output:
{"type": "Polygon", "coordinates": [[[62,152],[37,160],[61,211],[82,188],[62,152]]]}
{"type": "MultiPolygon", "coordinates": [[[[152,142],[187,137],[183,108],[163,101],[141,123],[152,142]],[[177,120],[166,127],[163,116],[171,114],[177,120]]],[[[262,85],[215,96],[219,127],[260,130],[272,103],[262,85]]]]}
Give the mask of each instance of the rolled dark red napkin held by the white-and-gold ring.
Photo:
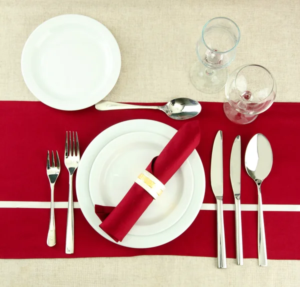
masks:
{"type": "MultiPolygon", "coordinates": [[[[151,160],[146,170],[165,184],[196,148],[199,141],[199,121],[193,120],[183,124],[160,154],[151,160]]],[[[152,201],[153,197],[134,182],[116,207],[95,205],[95,212],[102,221],[99,226],[116,242],[122,241],[152,201]]]]}

